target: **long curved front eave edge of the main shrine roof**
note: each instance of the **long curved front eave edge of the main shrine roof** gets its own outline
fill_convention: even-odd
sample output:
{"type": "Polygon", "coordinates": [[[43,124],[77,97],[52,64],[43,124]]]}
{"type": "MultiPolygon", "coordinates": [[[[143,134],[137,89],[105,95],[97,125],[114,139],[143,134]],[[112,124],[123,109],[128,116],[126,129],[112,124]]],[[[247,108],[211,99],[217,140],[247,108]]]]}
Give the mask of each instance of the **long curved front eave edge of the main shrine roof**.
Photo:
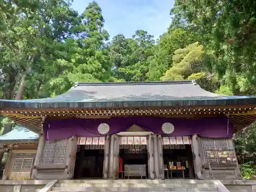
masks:
{"type": "Polygon", "coordinates": [[[255,97],[203,99],[197,100],[155,100],[155,101],[94,101],[94,102],[23,102],[0,100],[0,108],[13,109],[52,109],[52,108],[129,108],[129,107],[157,107],[157,106],[202,106],[202,105],[255,105],[255,97]]]}

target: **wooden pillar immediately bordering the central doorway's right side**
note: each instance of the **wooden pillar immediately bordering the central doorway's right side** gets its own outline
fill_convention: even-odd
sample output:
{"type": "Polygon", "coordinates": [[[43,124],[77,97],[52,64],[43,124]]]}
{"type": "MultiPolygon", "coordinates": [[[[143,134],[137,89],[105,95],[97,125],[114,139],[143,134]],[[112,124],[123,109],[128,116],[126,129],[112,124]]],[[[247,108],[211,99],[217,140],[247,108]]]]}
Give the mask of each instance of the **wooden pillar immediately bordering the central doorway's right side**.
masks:
{"type": "Polygon", "coordinates": [[[148,161],[148,177],[149,179],[154,179],[154,170],[155,170],[155,164],[154,164],[154,153],[153,153],[153,136],[148,135],[147,138],[147,161],[148,161]]]}

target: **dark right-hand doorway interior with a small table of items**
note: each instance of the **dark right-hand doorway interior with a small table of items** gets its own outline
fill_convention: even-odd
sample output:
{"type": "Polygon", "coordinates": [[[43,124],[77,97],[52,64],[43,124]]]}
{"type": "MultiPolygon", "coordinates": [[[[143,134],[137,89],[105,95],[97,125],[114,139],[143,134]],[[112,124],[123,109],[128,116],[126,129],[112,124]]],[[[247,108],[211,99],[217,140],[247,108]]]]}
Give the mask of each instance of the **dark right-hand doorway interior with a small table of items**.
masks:
{"type": "Polygon", "coordinates": [[[163,147],[165,178],[182,178],[182,169],[184,169],[185,178],[195,178],[191,145],[164,145],[163,147]],[[179,166],[181,169],[178,170],[179,166]],[[169,175],[167,176],[167,174],[169,175]]]}

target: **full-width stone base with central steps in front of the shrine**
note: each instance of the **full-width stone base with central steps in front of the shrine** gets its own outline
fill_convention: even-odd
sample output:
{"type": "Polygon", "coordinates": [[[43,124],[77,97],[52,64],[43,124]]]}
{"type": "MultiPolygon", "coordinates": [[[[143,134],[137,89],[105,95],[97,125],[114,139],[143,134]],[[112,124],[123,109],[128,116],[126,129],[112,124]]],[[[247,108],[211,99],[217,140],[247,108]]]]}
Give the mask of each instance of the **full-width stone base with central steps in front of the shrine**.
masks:
{"type": "Polygon", "coordinates": [[[29,180],[0,181],[4,192],[72,192],[72,191],[221,191],[256,192],[254,180],[29,180]]]}

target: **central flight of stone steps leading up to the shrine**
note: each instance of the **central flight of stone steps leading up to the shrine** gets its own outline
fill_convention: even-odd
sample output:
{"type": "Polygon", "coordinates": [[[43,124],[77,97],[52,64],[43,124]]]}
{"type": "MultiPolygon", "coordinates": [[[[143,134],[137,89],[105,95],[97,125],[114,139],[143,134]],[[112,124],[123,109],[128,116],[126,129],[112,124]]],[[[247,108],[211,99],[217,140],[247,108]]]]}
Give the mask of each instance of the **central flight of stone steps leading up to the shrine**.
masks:
{"type": "Polygon", "coordinates": [[[51,192],[71,191],[214,191],[218,188],[211,180],[59,180],[51,192]]]}

